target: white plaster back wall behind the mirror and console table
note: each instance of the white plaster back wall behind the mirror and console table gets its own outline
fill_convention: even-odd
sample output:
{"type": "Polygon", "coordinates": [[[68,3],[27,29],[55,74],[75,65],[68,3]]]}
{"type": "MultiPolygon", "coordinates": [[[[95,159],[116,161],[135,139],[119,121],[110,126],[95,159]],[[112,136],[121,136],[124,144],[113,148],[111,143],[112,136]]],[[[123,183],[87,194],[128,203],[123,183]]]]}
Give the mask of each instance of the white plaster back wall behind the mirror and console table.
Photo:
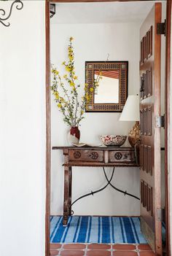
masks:
{"type": "MultiPolygon", "coordinates": [[[[139,24],[66,24],[51,25],[51,62],[63,71],[69,37],[74,37],[76,72],[85,82],[85,61],[129,61],[128,93],[139,90],[139,24]]],[[[83,89],[82,89],[83,90],[83,89]]],[[[86,113],[80,126],[81,141],[100,144],[100,134],[128,134],[133,123],[119,122],[120,113],[86,113]]],[[[67,126],[52,99],[52,146],[68,145],[67,126]]],[[[126,143],[125,145],[127,145],[126,143]]],[[[63,213],[63,155],[52,151],[51,214],[63,213]]],[[[106,184],[101,168],[73,168],[73,201],[106,184]]],[[[112,169],[108,169],[110,175],[112,169]]],[[[116,168],[113,184],[139,196],[138,168],[116,168]]],[[[77,202],[74,214],[139,215],[139,201],[107,187],[101,193],[77,202]]]]}

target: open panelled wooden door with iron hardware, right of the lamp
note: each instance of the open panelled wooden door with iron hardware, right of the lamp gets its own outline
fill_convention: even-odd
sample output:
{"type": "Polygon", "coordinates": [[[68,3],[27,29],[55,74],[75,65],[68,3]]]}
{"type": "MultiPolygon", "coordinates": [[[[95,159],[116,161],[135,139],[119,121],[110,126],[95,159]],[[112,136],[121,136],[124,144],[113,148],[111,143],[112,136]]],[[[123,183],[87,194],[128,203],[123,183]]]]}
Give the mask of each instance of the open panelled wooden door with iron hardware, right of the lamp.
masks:
{"type": "Polygon", "coordinates": [[[144,20],[141,39],[141,231],[156,255],[162,255],[160,196],[160,55],[161,4],[156,3],[144,20]]]}

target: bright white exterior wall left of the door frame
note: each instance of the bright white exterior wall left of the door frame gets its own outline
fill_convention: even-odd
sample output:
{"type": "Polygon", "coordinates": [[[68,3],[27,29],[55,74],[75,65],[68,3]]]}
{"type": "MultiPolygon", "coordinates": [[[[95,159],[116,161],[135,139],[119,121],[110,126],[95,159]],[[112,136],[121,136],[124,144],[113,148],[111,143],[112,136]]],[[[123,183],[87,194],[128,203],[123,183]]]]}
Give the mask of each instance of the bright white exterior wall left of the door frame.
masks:
{"type": "MultiPolygon", "coordinates": [[[[44,255],[44,1],[0,23],[0,255],[44,255]]],[[[11,1],[0,1],[9,9],[11,1]]]]}

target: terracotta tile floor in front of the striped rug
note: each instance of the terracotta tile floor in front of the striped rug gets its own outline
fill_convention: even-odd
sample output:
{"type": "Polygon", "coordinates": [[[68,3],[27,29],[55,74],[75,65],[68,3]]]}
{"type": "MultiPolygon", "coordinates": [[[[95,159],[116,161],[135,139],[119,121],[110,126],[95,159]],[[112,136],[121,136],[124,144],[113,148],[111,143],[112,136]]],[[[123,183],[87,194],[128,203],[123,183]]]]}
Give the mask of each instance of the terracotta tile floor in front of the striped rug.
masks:
{"type": "Polygon", "coordinates": [[[148,244],[50,244],[56,256],[154,256],[148,244]]]}

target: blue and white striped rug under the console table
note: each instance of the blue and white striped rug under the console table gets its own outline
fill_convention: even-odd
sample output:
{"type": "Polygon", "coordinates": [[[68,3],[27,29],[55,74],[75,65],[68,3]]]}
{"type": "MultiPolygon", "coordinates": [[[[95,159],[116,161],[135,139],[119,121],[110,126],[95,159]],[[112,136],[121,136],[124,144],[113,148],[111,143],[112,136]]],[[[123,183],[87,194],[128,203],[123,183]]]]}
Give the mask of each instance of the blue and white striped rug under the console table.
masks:
{"type": "Polygon", "coordinates": [[[50,217],[51,243],[146,244],[138,217],[50,217]]]}

